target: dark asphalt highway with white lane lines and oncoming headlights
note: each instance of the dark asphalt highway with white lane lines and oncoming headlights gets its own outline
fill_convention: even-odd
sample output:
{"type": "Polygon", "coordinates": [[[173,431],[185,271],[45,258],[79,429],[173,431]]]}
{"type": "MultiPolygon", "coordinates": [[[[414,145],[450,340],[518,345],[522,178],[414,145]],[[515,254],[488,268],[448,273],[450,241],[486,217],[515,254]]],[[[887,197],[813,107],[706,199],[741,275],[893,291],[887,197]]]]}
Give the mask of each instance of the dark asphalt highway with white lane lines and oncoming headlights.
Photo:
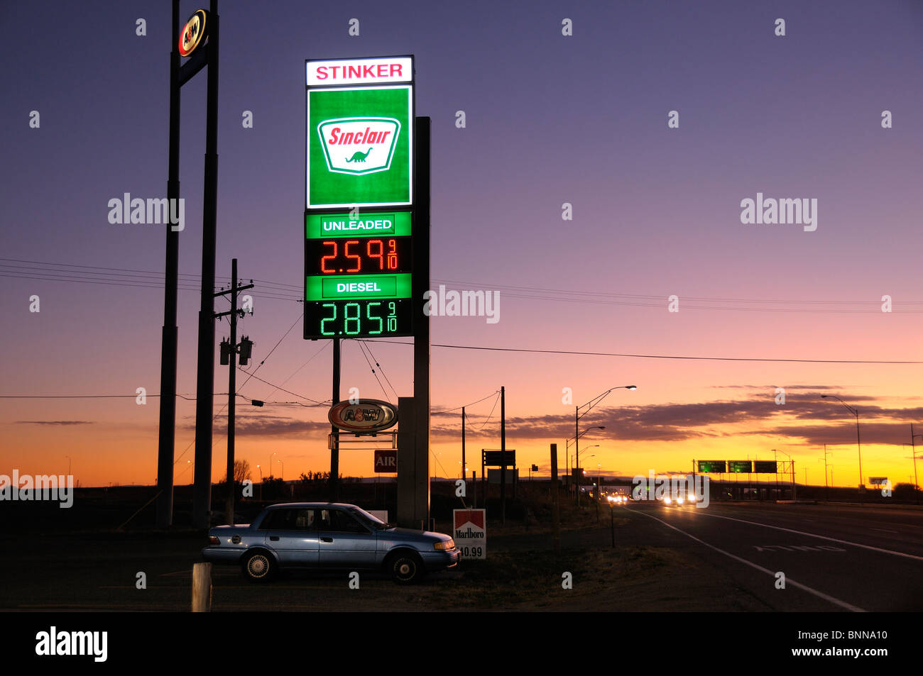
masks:
{"type": "Polygon", "coordinates": [[[634,538],[705,560],[766,610],[923,610],[923,511],[912,507],[635,503],[621,515],[634,538]]]}

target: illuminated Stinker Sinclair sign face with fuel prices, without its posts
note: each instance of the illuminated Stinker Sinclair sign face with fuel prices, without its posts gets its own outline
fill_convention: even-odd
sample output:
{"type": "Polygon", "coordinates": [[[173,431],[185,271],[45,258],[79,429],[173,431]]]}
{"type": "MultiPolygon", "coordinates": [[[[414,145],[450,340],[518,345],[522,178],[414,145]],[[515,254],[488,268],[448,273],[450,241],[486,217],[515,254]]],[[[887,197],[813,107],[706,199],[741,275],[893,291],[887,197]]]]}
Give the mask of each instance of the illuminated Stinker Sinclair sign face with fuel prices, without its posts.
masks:
{"type": "Polygon", "coordinates": [[[304,338],[412,336],[414,63],[306,62],[304,338]]]}

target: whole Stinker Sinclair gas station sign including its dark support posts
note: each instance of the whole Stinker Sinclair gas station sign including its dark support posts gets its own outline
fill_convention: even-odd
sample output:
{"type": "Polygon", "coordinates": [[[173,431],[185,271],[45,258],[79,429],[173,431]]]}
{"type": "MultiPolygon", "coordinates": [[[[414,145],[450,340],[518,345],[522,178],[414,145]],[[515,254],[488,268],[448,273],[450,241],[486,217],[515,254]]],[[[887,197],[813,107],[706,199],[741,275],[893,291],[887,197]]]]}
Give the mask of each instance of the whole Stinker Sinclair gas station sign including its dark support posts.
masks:
{"type": "MultiPolygon", "coordinates": [[[[429,119],[414,115],[414,57],[306,66],[305,326],[344,338],[414,337],[414,397],[401,397],[398,516],[429,517],[429,119]]],[[[339,456],[331,433],[330,494],[339,456]]],[[[336,499],[333,497],[332,499],[336,499]]]]}

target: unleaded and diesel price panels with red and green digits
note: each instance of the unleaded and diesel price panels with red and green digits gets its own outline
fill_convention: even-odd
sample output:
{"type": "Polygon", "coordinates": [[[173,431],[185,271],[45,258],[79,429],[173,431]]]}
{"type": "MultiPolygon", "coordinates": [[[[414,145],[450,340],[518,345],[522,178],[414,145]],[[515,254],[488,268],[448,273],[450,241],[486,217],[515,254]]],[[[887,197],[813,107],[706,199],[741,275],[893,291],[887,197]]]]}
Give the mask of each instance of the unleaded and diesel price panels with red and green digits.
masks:
{"type": "Polygon", "coordinates": [[[305,217],[305,338],[413,335],[409,211],[305,217]]]}

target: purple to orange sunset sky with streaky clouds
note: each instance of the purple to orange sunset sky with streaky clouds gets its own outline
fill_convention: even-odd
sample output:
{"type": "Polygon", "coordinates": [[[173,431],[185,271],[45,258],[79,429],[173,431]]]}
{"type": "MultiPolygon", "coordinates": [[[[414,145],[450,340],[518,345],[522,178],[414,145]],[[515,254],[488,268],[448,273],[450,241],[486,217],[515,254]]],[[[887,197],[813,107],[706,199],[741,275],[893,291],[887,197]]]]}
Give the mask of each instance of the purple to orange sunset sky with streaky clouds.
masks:
{"type": "MultiPolygon", "coordinates": [[[[183,3],[182,16],[197,7],[183,3]]],[[[583,467],[646,475],[689,470],[692,458],[772,459],[775,448],[799,482],[807,468],[822,484],[827,444],[833,482],[855,486],[855,419],[821,400],[831,394],[859,409],[864,479],[912,480],[911,422],[923,433],[920,3],[226,1],[221,21],[217,269],[226,284],[236,257],[256,285],[238,329],[255,343],[244,367],[255,376],[237,383],[267,404],[238,398],[236,439],[255,480],[273,452],[286,479],[330,468],[332,350],[303,340],[299,319],[305,59],[408,53],[416,114],[432,119],[432,288],[500,293],[496,324],[432,318],[434,476],[460,474],[462,405],[481,400],[467,409],[469,470],[481,448],[499,447],[501,385],[507,446],[545,476],[549,444],[566,464],[574,405],[638,385],[581,420],[605,425],[582,437],[581,449],[598,444],[583,467]],[[757,193],[817,199],[817,230],[742,223],[741,200],[757,193]]],[[[155,479],[164,226],[110,224],[107,204],[165,196],[169,23],[165,1],[0,6],[2,474],[66,473],[69,456],[82,485],[155,479]],[[39,398],[65,395],[80,398],[39,398]]],[[[202,73],[182,90],[177,484],[192,480],[205,85],[202,73]]],[[[217,339],[227,335],[218,323],[217,339]]],[[[410,396],[409,340],[366,343],[377,374],[345,341],[342,396],[410,396]]],[[[215,480],[227,376],[216,365],[215,480]]],[[[372,475],[371,450],[344,451],[341,470],[372,475]]]]}

